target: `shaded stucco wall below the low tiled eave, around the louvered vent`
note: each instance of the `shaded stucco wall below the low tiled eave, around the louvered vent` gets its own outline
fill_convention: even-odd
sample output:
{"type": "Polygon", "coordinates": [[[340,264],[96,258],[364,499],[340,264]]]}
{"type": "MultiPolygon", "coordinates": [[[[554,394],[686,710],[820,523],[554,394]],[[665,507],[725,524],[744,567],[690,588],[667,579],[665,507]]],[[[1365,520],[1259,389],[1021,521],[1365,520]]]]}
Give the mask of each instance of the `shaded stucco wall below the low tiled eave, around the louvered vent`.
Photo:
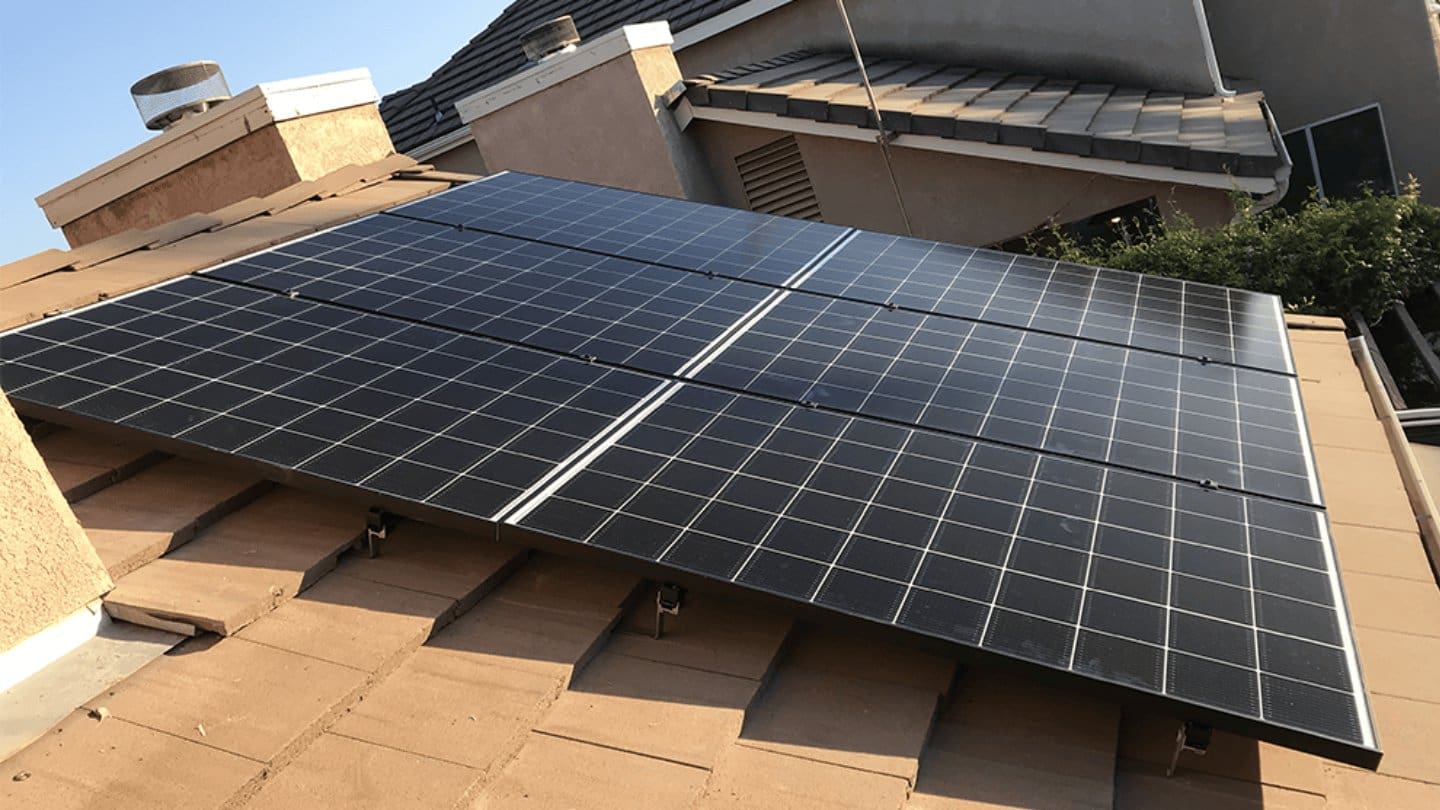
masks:
{"type": "MultiPolygon", "coordinates": [[[[746,208],[734,156],[783,133],[696,121],[687,134],[710,156],[723,192],[720,202],[746,208]]],[[[805,134],[795,140],[827,222],[904,232],[878,146],[805,134]]],[[[1228,195],[1212,189],[900,147],[891,147],[891,154],[914,233],[929,239],[991,245],[1027,233],[1051,218],[1071,222],[1151,196],[1158,197],[1162,210],[1182,210],[1207,226],[1233,215],[1228,195]]]]}

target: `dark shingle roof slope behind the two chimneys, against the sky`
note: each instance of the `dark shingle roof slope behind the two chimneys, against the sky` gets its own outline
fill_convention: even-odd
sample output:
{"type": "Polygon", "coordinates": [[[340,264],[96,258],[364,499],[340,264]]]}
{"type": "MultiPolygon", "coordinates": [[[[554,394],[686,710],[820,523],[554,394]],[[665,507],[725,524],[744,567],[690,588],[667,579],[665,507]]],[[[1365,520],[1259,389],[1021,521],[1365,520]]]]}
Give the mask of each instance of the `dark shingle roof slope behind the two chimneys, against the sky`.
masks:
{"type": "Polygon", "coordinates": [[[431,78],[380,101],[380,115],[396,151],[459,130],[455,102],[526,66],[520,35],[544,20],[570,14],[585,39],[632,23],[668,20],[684,30],[744,0],[516,0],[475,39],[455,52],[431,78]]]}

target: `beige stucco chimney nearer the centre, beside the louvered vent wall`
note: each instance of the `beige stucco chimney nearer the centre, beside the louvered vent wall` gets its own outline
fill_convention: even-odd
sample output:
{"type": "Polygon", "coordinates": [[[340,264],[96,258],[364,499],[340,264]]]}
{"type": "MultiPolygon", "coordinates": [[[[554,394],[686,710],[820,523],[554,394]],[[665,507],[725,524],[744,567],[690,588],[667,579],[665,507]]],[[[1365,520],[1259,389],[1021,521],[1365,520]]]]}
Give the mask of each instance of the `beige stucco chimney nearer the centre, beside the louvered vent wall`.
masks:
{"type": "Polygon", "coordinates": [[[706,163],[670,110],[684,89],[672,42],[668,23],[625,26],[550,55],[455,108],[488,172],[708,199],[706,163]]]}

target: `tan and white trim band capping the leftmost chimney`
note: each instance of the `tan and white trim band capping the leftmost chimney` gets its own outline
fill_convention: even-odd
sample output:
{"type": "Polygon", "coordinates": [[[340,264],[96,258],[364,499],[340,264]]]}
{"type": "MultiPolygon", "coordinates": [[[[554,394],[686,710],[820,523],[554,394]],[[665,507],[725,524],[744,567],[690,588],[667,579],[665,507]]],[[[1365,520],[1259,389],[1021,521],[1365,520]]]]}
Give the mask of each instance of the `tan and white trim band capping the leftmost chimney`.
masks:
{"type": "Polygon", "coordinates": [[[278,121],[374,104],[370,71],[265,82],[35,197],[55,228],[278,121]]]}

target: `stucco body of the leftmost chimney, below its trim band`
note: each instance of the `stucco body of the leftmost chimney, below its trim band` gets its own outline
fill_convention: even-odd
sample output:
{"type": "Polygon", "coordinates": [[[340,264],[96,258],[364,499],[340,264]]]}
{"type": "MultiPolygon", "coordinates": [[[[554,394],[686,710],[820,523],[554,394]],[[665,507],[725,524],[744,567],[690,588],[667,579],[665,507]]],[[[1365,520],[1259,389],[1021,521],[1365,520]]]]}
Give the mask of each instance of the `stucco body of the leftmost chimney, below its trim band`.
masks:
{"type": "Polygon", "coordinates": [[[351,163],[373,163],[392,151],[390,134],[373,104],[281,121],[81,216],[65,225],[65,238],[73,248],[131,228],[154,228],[351,163]]]}

